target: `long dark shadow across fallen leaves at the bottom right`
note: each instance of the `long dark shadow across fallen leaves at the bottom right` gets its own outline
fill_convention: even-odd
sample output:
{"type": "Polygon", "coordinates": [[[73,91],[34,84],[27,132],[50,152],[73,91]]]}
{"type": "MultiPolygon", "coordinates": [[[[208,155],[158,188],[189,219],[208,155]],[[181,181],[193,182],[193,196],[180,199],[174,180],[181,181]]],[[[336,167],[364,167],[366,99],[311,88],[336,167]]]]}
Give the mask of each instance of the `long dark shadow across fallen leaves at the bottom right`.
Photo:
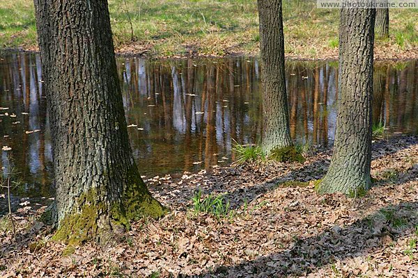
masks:
{"type": "MultiPolygon", "coordinates": [[[[357,220],[348,227],[334,226],[313,237],[295,238],[292,247],[258,256],[252,261],[237,265],[220,265],[201,275],[181,277],[295,277],[308,275],[337,260],[367,256],[396,240],[410,236],[418,227],[418,202],[386,206],[379,211],[357,220]],[[385,211],[393,211],[401,219],[394,224],[385,211]]],[[[279,231],[278,231],[279,232],[279,231]]],[[[355,273],[347,274],[356,275],[355,273]]]]}

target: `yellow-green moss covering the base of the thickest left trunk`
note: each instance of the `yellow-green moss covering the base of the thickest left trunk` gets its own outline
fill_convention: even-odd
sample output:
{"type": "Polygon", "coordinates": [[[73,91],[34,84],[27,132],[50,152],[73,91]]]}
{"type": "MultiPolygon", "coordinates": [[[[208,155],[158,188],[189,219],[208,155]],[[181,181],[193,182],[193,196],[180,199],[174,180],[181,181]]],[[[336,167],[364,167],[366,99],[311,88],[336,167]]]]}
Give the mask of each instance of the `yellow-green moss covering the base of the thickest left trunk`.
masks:
{"type": "MultiPolygon", "coordinates": [[[[135,169],[127,175],[130,181],[118,202],[103,201],[96,188],[76,200],[74,209],[59,223],[53,240],[79,245],[87,240],[102,241],[111,231],[130,229],[130,221],[160,218],[167,210],[154,199],[135,169]]],[[[106,240],[103,240],[106,241],[106,240]]]]}

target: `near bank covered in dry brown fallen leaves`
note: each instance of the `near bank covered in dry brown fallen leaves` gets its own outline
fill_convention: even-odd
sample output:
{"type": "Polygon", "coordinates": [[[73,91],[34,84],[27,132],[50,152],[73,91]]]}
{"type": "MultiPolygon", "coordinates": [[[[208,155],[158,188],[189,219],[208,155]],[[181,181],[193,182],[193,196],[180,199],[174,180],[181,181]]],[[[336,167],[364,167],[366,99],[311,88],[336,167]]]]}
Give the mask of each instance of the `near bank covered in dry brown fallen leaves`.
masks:
{"type": "Polygon", "coordinates": [[[106,246],[49,241],[43,208],[23,204],[15,236],[0,222],[0,276],[418,277],[418,136],[373,143],[375,186],[359,198],[317,195],[332,151],[309,152],[304,163],[156,177],[150,189],[171,211],[106,246]],[[222,207],[196,211],[208,196],[222,207]]]}

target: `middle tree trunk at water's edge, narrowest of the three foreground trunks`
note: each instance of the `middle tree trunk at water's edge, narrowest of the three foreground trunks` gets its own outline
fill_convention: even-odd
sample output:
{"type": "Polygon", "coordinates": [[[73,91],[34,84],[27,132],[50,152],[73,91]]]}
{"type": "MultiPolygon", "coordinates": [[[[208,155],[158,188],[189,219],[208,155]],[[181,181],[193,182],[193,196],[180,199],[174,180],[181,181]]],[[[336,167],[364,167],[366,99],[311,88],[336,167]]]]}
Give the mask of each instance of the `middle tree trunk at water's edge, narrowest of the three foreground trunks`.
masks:
{"type": "Polygon", "coordinates": [[[258,0],[261,82],[263,84],[263,150],[293,145],[289,128],[284,76],[284,35],[281,0],[258,0]]]}

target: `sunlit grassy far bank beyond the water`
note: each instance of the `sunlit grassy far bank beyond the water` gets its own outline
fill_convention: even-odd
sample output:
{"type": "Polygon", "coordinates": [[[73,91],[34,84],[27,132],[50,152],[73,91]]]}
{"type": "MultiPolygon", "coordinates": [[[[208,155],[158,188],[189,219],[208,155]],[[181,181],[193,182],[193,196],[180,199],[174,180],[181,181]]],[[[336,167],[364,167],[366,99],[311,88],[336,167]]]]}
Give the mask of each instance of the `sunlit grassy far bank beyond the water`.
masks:
{"type": "MultiPolygon", "coordinates": [[[[37,50],[33,1],[0,1],[0,48],[37,50]]],[[[418,58],[418,9],[390,10],[390,38],[376,39],[377,59],[418,58]]],[[[109,0],[116,51],[152,58],[256,56],[257,2],[252,0],[109,0]]],[[[338,56],[339,9],[283,1],[288,58],[338,56]]]]}

